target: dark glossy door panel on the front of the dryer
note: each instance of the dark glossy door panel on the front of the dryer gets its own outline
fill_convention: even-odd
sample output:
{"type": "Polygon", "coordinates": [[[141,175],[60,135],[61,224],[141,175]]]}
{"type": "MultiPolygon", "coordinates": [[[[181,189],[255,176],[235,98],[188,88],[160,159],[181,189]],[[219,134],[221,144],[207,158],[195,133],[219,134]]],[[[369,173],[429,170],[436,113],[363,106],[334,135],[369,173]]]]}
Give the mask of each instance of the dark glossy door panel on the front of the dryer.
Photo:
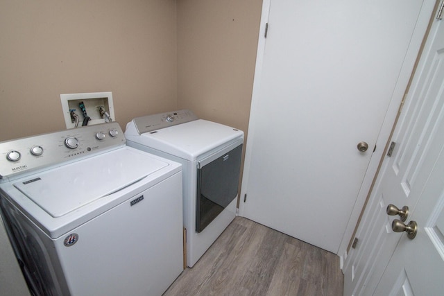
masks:
{"type": "Polygon", "coordinates": [[[242,144],[198,168],[196,232],[202,232],[237,196],[242,144]]]}

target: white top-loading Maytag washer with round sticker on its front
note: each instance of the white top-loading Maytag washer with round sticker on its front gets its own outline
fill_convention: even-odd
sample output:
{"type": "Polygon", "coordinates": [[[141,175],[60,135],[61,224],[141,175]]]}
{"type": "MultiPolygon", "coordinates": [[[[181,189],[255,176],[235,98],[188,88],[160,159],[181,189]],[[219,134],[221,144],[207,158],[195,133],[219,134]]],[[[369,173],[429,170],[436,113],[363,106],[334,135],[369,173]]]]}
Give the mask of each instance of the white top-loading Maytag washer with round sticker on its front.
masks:
{"type": "Polygon", "coordinates": [[[162,295],[182,272],[182,166],[118,123],[3,141],[0,176],[33,295],[162,295]]]}

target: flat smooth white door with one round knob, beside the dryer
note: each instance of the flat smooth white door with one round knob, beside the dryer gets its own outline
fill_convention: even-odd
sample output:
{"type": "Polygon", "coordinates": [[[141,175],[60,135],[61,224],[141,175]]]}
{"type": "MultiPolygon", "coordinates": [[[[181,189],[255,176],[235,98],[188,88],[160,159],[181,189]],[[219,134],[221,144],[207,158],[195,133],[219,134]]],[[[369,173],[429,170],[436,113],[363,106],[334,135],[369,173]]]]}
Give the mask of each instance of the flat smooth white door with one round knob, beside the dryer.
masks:
{"type": "Polygon", "coordinates": [[[391,101],[402,99],[429,2],[271,1],[239,214],[339,252],[370,159],[382,155],[386,139],[373,149],[391,101]]]}

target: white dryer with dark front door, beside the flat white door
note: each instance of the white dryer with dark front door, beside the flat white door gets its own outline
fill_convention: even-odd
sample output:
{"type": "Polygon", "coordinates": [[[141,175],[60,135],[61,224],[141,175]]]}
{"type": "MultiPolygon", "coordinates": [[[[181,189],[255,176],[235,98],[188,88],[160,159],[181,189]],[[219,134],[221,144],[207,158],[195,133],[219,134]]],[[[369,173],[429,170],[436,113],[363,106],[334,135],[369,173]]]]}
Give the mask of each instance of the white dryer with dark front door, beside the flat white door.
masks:
{"type": "Polygon", "coordinates": [[[133,119],[125,137],[128,146],[182,164],[187,265],[192,267],[236,216],[244,132],[178,110],[133,119]]]}

